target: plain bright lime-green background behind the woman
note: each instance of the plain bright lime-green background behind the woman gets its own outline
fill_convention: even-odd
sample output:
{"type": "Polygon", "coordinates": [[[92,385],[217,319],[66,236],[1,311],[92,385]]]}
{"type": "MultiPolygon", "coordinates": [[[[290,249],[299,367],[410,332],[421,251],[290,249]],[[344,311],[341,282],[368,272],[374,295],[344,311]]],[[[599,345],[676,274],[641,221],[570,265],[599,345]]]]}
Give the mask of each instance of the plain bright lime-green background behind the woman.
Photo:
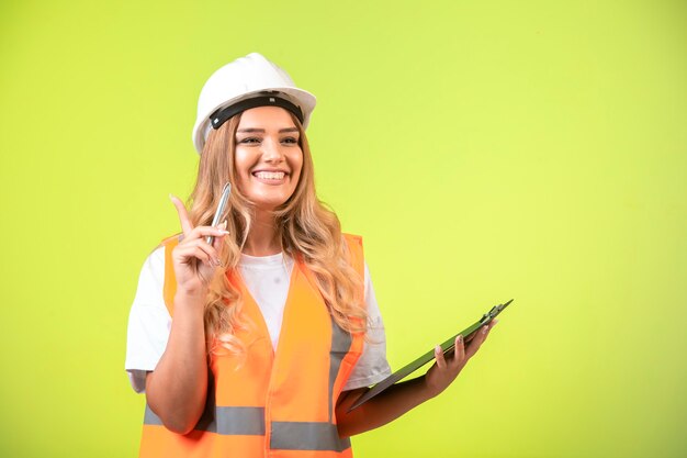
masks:
{"type": "Polygon", "coordinates": [[[27,0],[0,3],[0,456],[136,455],[138,272],[200,88],[254,51],[318,97],[394,368],[516,299],[358,457],[687,455],[686,2],[27,0]]]}

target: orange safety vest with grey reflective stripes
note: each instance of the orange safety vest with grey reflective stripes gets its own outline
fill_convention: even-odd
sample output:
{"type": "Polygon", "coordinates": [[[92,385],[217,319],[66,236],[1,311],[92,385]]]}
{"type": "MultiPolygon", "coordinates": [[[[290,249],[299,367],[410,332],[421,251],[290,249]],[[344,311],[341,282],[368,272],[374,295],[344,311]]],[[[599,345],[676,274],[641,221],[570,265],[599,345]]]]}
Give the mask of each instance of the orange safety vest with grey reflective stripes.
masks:
{"type": "MultiPolygon", "coordinates": [[[[362,238],[345,238],[363,278],[362,238]]],[[[164,292],[170,314],[177,289],[171,252],[178,243],[177,237],[165,242],[164,292]]],[[[350,440],[339,438],[335,407],[362,351],[363,335],[336,324],[313,273],[296,259],[274,351],[240,275],[233,270],[227,276],[240,289],[243,313],[252,324],[236,333],[246,355],[211,355],[207,403],[191,433],[170,432],[146,405],[140,457],[352,457],[350,440]]]]}

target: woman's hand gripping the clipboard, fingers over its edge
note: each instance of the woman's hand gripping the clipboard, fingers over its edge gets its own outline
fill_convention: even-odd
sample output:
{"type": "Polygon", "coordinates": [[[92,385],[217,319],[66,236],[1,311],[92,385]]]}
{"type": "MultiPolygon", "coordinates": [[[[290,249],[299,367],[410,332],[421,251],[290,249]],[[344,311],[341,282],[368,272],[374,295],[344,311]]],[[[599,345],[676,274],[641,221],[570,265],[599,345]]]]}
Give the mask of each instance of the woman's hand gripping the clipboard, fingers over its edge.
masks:
{"type": "Polygon", "coordinates": [[[453,355],[448,358],[443,356],[441,347],[437,345],[435,348],[437,361],[425,375],[425,383],[432,396],[441,393],[449,387],[449,384],[451,384],[453,380],[455,380],[470,358],[477,353],[484,340],[486,340],[486,337],[489,335],[489,332],[496,323],[498,323],[498,321],[493,320],[488,325],[482,326],[466,346],[463,342],[463,337],[458,336],[455,338],[453,355]]]}

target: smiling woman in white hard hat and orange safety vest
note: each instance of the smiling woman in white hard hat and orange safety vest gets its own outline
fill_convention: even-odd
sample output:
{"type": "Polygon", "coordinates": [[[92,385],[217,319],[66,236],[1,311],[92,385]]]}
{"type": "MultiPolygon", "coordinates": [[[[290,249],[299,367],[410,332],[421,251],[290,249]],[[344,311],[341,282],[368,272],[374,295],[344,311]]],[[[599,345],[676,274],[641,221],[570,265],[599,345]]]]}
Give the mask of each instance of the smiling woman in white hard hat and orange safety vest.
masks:
{"type": "Polygon", "coordinates": [[[443,391],[495,324],[348,412],[390,369],[361,239],[315,194],[314,107],[255,53],[203,87],[191,210],[172,198],[182,234],[146,261],[129,316],[126,369],[147,401],[140,456],[351,456],[350,436],[443,391]],[[227,180],[226,220],[211,227],[227,180]]]}

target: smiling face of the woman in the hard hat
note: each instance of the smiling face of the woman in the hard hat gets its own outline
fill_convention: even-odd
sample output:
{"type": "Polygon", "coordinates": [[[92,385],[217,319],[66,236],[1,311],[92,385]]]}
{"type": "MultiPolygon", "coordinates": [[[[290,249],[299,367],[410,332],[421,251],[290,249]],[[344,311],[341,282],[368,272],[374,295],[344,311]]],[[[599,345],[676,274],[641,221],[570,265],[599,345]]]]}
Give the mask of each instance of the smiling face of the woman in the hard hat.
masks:
{"type": "Polygon", "coordinates": [[[274,210],[296,189],[303,167],[299,129],[279,107],[258,107],[241,114],[234,164],[238,189],[257,210],[274,210]]]}

